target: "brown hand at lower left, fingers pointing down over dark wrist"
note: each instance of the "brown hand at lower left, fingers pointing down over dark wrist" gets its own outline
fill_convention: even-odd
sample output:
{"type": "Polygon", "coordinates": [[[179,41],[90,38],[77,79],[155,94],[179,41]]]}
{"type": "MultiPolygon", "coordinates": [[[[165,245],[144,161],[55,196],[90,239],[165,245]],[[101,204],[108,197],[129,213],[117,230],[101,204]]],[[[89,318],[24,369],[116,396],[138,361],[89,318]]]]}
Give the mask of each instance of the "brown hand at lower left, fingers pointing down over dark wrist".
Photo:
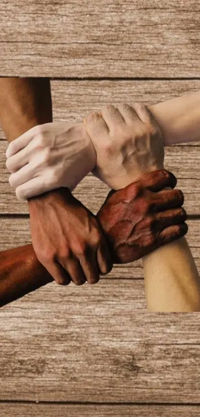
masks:
{"type": "Polygon", "coordinates": [[[112,269],[95,216],[61,188],[29,200],[32,243],[38,260],[58,284],[99,281],[112,269]]]}

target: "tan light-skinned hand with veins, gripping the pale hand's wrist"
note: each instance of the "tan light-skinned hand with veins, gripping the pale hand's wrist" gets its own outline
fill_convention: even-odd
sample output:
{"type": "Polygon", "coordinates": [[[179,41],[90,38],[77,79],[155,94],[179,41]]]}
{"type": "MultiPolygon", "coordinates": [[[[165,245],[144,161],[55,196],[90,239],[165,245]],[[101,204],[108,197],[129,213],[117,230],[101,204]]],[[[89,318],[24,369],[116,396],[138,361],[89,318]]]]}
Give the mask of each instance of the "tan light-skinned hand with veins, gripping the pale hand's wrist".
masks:
{"type": "Polygon", "coordinates": [[[93,174],[109,187],[123,188],[142,174],[163,168],[161,130],[143,104],[106,105],[83,122],[97,153],[93,174]]]}

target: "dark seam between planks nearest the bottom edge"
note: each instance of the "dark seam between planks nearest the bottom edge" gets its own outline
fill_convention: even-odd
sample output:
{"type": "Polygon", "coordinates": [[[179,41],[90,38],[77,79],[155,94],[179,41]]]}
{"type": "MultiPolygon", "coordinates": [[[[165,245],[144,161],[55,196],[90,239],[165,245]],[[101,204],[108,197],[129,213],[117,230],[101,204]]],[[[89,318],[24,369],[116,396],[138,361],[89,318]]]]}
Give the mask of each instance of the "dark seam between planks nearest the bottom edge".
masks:
{"type": "Polygon", "coordinates": [[[85,406],[140,406],[143,407],[145,405],[148,406],[162,406],[162,407],[169,407],[170,406],[177,406],[177,407],[199,407],[200,403],[130,403],[130,402],[114,402],[114,403],[105,403],[105,402],[84,402],[84,401],[33,401],[33,400],[0,400],[0,404],[42,404],[42,405],[85,405],[85,406]]]}

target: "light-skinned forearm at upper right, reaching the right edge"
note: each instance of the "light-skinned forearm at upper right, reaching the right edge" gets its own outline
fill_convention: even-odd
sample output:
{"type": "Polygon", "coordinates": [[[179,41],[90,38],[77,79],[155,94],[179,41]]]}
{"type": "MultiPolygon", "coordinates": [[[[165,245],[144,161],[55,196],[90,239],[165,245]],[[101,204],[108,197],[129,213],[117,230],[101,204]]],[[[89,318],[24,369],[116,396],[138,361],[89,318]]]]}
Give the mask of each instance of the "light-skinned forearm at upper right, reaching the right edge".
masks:
{"type": "Polygon", "coordinates": [[[200,92],[149,108],[162,130],[165,146],[200,141],[200,92]]]}

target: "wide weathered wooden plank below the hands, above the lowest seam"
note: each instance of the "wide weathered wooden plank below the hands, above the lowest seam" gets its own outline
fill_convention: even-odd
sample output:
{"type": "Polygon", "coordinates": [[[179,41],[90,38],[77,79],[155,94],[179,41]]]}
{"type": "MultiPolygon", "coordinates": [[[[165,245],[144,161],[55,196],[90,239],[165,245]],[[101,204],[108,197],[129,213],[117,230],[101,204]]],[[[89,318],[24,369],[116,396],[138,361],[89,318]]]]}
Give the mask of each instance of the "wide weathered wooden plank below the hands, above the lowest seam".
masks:
{"type": "Polygon", "coordinates": [[[0,400],[200,403],[199,314],[147,314],[143,293],[49,284],[2,307],[0,400]]]}

